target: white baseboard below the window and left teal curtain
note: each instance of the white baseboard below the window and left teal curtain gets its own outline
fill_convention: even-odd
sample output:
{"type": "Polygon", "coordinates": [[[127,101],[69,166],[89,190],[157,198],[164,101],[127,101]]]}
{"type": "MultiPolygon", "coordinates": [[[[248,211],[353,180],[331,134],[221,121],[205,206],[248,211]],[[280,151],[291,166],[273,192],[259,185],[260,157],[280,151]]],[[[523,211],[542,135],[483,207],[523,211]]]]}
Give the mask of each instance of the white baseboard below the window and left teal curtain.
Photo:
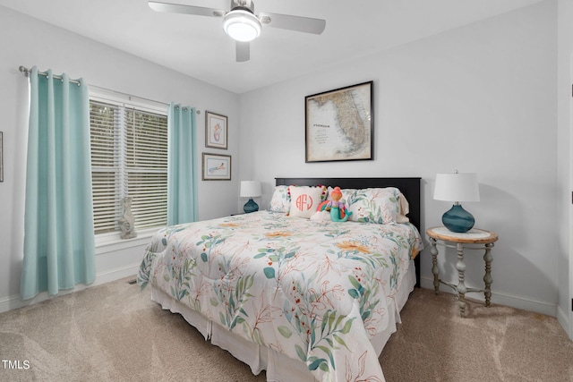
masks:
{"type": "MultiPolygon", "coordinates": [[[[139,267],[140,267],[139,264],[133,264],[133,265],[128,266],[128,267],[115,268],[115,269],[107,270],[106,272],[98,273],[96,275],[96,280],[93,283],[91,283],[89,285],[78,284],[73,289],[60,291],[60,293],[58,293],[57,296],[61,296],[61,295],[68,294],[68,293],[78,292],[78,291],[90,288],[92,286],[106,284],[106,283],[109,283],[111,281],[119,280],[119,279],[124,278],[124,277],[137,275],[139,267]]],[[[15,294],[13,296],[4,297],[4,298],[0,299],[0,313],[3,313],[4,311],[8,311],[8,310],[23,308],[25,306],[32,305],[32,304],[35,304],[35,303],[38,303],[41,301],[49,300],[53,297],[56,297],[56,296],[50,296],[47,294],[47,292],[38,293],[38,295],[36,297],[34,297],[33,299],[30,299],[30,300],[26,300],[26,301],[21,301],[20,294],[15,294]]]]}

